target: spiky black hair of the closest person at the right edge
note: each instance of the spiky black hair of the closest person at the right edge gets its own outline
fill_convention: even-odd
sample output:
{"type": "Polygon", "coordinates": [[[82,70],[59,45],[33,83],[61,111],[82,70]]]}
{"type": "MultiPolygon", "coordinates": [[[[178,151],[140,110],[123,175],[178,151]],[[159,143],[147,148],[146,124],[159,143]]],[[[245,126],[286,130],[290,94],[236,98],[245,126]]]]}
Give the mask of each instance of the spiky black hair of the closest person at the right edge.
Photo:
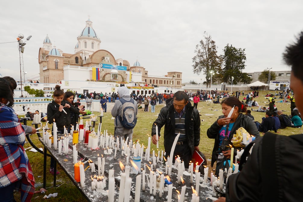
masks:
{"type": "Polygon", "coordinates": [[[283,53],[283,60],[286,65],[291,66],[293,75],[303,82],[303,31],[296,38],[297,41],[288,45],[283,53]]]}

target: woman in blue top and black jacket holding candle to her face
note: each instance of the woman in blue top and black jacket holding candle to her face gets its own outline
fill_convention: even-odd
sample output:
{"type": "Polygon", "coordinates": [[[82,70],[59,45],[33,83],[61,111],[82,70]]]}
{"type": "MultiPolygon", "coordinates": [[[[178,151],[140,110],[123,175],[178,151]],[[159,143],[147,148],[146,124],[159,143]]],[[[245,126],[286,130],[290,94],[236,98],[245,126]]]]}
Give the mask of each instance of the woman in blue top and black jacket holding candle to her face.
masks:
{"type": "MultiPolygon", "coordinates": [[[[222,151],[219,146],[232,145],[231,139],[238,128],[245,128],[249,134],[254,135],[256,138],[260,136],[254,121],[241,113],[246,112],[246,107],[242,105],[238,98],[228,97],[222,101],[221,106],[223,115],[219,116],[217,121],[215,121],[215,123],[213,123],[207,130],[208,138],[215,139],[211,157],[211,166],[214,165],[215,161],[217,161],[218,165],[219,162],[225,161],[226,158],[231,158],[231,150],[222,151]]],[[[234,153],[236,151],[237,150],[235,149],[234,153]]],[[[218,173],[219,169],[217,167],[215,175],[218,175],[218,173]]]]}

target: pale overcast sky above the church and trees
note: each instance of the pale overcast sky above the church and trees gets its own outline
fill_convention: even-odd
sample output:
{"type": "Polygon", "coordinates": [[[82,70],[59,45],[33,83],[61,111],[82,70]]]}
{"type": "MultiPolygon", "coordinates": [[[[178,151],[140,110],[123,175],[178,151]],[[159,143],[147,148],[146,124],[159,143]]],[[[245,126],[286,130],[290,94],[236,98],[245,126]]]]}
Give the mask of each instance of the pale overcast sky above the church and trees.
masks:
{"type": "MultiPolygon", "coordinates": [[[[290,70],[283,65],[285,46],[303,30],[303,1],[5,1],[0,12],[0,74],[20,80],[18,34],[26,42],[26,79],[39,79],[38,51],[48,34],[53,46],[73,54],[90,15],[100,49],[115,59],[138,59],[149,75],[183,72],[183,82],[200,83],[192,71],[195,46],[208,32],[218,46],[245,48],[244,72],[290,70]]],[[[85,78],[86,79],[86,78],[85,78]]],[[[77,79],[75,79],[77,80],[77,79]]],[[[80,78],[79,78],[80,80],[80,78]]]]}

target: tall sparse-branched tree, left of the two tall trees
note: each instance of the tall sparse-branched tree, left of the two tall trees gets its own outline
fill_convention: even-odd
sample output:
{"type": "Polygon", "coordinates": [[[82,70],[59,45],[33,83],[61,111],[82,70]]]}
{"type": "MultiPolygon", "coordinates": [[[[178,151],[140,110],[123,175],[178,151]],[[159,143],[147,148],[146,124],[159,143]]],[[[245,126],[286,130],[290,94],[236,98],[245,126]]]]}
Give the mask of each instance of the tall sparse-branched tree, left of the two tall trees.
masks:
{"type": "Polygon", "coordinates": [[[198,45],[196,45],[195,50],[196,55],[192,58],[193,61],[193,71],[195,74],[200,75],[203,72],[206,75],[206,85],[210,84],[211,73],[218,72],[221,68],[220,57],[217,55],[217,46],[215,41],[212,40],[211,35],[205,31],[203,39],[198,45]]]}

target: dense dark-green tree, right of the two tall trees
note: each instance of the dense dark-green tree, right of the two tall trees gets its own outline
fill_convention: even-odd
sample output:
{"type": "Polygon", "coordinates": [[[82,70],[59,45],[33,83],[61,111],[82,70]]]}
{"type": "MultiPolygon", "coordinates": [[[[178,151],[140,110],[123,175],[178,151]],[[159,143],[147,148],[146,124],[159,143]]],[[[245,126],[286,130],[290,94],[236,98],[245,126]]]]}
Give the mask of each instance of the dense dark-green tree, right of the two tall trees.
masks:
{"type": "Polygon", "coordinates": [[[224,62],[222,81],[231,84],[231,77],[233,76],[233,84],[237,84],[242,81],[242,70],[245,68],[245,48],[235,48],[227,44],[223,51],[224,55],[221,55],[224,62]]]}

